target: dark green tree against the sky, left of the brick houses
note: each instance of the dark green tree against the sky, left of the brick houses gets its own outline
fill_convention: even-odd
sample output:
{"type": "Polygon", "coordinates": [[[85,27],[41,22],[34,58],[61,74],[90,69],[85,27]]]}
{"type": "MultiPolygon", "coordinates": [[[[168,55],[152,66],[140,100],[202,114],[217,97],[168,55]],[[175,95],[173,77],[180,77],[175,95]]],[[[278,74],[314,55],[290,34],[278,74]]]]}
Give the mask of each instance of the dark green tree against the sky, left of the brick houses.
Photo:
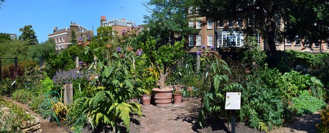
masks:
{"type": "Polygon", "coordinates": [[[26,41],[27,45],[36,45],[38,44],[37,36],[35,35],[34,30],[32,29],[31,25],[24,26],[20,28],[20,32],[22,34],[19,36],[21,41],[26,41]]]}

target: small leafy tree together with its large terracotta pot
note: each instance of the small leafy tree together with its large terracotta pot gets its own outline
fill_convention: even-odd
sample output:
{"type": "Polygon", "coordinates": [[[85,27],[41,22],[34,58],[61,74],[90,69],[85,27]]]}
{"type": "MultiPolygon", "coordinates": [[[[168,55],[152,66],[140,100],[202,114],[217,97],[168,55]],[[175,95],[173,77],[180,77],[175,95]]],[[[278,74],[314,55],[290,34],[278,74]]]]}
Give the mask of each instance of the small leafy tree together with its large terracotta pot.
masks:
{"type": "Polygon", "coordinates": [[[173,45],[166,44],[156,47],[156,40],[148,38],[146,43],[142,44],[145,55],[147,56],[155,74],[160,76],[160,88],[153,88],[155,105],[170,106],[172,99],[172,91],[174,89],[165,86],[165,78],[170,73],[171,68],[182,59],[186,53],[184,49],[185,40],[175,42],[173,45]]]}

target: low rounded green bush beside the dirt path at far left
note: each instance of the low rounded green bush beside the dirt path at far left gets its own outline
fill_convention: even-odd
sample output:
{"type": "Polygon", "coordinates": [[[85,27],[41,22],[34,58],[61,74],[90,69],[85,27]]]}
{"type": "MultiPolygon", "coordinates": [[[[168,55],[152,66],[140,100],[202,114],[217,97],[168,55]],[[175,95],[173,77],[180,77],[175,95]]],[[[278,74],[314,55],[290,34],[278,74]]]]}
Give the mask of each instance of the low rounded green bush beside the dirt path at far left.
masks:
{"type": "Polygon", "coordinates": [[[32,100],[33,94],[29,90],[19,89],[19,90],[14,91],[14,93],[12,94],[11,97],[15,101],[26,104],[27,102],[32,100]]]}

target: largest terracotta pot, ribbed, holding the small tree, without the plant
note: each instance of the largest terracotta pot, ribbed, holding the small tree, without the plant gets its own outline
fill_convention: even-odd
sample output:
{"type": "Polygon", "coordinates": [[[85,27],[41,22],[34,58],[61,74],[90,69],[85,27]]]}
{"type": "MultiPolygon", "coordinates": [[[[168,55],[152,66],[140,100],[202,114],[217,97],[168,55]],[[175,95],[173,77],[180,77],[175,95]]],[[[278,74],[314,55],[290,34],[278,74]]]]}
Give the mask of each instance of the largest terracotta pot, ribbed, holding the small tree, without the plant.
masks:
{"type": "Polygon", "coordinates": [[[153,88],[155,106],[165,107],[171,105],[172,88],[153,88]]]}

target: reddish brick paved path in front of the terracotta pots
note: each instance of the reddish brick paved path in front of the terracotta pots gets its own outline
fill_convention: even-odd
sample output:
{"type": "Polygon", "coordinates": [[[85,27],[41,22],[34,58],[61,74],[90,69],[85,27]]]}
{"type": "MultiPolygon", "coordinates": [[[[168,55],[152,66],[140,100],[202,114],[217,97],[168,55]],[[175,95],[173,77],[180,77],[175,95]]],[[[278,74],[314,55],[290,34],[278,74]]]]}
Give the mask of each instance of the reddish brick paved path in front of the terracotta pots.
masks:
{"type": "Polygon", "coordinates": [[[169,107],[142,106],[141,133],[194,133],[200,102],[169,107]]]}

